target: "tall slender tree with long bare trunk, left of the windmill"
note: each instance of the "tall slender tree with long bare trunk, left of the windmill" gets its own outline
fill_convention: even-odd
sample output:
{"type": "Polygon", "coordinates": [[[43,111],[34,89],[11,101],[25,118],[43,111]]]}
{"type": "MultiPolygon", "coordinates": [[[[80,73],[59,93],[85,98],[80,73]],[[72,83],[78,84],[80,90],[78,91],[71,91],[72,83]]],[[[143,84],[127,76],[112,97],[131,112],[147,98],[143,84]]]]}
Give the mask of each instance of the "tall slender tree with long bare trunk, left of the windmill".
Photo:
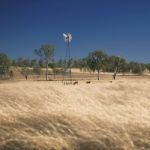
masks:
{"type": "Polygon", "coordinates": [[[46,80],[48,80],[48,64],[49,61],[53,58],[55,48],[53,45],[44,44],[41,45],[40,49],[36,49],[34,52],[38,55],[42,60],[45,61],[46,65],[46,80]]]}

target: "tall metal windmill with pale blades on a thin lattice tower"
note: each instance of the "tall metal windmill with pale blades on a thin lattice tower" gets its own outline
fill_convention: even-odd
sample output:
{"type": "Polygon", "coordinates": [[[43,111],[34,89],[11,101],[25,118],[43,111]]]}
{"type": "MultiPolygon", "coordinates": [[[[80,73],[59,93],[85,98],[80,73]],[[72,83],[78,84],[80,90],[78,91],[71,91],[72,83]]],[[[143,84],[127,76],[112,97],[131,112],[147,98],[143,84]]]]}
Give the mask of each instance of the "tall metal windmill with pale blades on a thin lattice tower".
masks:
{"type": "Polygon", "coordinates": [[[72,40],[72,35],[70,33],[63,33],[64,41],[67,43],[66,47],[66,60],[64,64],[64,77],[66,69],[69,69],[69,78],[70,81],[72,80],[71,76],[71,58],[70,58],[70,42],[72,40]]]}

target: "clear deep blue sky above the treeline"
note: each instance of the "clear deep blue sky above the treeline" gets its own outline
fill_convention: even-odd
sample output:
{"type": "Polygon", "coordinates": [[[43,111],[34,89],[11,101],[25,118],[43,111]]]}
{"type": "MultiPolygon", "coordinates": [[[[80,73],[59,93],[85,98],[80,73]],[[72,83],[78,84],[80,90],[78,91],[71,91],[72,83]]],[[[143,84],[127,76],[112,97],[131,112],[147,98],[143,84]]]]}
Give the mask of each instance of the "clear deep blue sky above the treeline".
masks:
{"type": "Polygon", "coordinates": [[[103,49],[127,60],[150,62],[149,0],[0,0],[0,52],[35,57],[41,44],[64,58],[62,33],[70,32],[71,55],[103,49]]]}

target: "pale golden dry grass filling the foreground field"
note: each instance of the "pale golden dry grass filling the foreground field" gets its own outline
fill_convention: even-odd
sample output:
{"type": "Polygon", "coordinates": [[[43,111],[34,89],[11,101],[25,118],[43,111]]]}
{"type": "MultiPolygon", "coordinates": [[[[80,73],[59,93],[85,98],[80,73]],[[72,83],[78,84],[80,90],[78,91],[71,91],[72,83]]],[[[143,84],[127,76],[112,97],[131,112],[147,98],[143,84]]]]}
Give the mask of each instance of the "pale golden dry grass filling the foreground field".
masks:
{"type": "Polygon", "coordinates": [[[150,150],[150,80],[0,83],[0,150],[150,150]]]}

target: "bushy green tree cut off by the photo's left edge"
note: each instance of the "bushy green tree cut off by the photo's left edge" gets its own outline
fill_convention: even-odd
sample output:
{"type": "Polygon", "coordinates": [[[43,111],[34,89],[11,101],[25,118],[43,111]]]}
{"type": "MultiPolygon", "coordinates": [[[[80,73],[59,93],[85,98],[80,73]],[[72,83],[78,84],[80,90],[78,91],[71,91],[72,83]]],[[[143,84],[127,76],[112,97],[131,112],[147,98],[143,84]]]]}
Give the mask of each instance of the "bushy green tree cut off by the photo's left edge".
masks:
{"type": "Polygon", "coordinates": [[[4,53],[0,53],[0,77],[6,78],[9,73],[11,61],[8,56],[4,53]]]}

